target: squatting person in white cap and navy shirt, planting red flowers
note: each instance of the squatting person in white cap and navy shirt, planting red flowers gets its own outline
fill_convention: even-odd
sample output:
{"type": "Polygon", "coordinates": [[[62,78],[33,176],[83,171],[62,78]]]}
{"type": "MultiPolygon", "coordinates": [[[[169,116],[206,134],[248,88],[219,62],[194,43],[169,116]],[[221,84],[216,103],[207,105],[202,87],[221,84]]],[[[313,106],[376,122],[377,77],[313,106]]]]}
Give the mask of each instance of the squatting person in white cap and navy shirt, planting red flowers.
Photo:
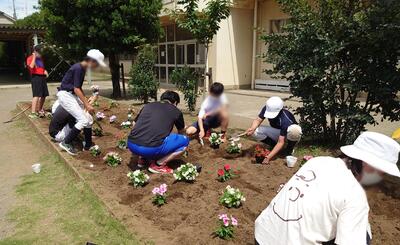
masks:
{"type": "Polygon", "coordinates": [[[294,146],[302,136],[302,130],[297,125],[293,114],[283,108],[283,100],[277,96],[267,100],[251,127],[246,131],[248,136],[254,136],[272,147],[271,153],[265,158],[264,164],[269,163],[283,148],[287,141],[285,155],[291,155],[294,146]],[[261,124],[268,119],[270,127],[261,124]]]}

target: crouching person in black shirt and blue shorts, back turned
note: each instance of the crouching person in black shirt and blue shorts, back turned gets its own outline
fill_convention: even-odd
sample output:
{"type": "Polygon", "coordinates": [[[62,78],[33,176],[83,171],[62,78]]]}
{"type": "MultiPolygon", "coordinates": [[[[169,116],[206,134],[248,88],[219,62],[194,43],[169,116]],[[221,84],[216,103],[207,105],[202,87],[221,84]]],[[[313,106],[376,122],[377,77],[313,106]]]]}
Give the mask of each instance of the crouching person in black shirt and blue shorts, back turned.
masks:
{"type": "Polygon", "coordinates": [[[181,156],[189,145],[188,137],[181,135],[185,128],[182,112],[176,107],[180,98],[174,91],[166,91],[160,102],[147,104],[135,119],[128,137],[128,148],[139,156],[138,167],[150,161],[152,173],[169,173],[167,163],[181,156]],[[176,127],[179,134],[171,133],[176,127]]]}

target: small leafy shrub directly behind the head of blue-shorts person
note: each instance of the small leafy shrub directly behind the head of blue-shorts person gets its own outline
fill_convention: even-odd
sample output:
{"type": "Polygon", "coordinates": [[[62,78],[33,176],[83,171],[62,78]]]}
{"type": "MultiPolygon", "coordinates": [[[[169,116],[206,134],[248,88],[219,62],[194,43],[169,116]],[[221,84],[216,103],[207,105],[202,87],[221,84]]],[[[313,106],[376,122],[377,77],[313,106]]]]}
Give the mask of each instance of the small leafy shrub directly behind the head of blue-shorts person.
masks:
{"type": "Polygon", "coordinates": [[[189,67],[176,68],[171,74],[171,81],[184,95],[186,106],[190,112],[196,110],[196,100],[199,96],[199,76],[189,67]]]}

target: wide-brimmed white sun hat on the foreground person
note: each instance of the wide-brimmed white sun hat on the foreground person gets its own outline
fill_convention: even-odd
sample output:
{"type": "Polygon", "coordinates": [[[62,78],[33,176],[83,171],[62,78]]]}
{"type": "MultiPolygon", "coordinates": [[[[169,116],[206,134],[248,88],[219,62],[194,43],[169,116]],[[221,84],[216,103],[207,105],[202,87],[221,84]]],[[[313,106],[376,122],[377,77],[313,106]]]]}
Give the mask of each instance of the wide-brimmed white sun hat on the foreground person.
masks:
{"type": "Polygon", "coordinates": [[[400,145],[392,138],[375,132],[362,133],[352,145],[340,150],[347,156],[361,160],[373,168],[400,177],[397,167],[400,145]]]}

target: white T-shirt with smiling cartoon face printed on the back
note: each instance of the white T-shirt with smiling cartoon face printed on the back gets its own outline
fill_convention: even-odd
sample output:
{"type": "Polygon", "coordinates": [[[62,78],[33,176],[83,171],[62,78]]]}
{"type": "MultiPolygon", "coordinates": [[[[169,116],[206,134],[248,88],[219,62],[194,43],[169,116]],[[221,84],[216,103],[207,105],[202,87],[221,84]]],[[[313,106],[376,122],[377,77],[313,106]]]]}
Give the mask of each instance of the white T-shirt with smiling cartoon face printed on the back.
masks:
{"type": "Polygon", "coordinates": [[[369,206],[364,189],[339,158],[308,161],[255,222],[261,245],[366,245],[369,206]]]}

